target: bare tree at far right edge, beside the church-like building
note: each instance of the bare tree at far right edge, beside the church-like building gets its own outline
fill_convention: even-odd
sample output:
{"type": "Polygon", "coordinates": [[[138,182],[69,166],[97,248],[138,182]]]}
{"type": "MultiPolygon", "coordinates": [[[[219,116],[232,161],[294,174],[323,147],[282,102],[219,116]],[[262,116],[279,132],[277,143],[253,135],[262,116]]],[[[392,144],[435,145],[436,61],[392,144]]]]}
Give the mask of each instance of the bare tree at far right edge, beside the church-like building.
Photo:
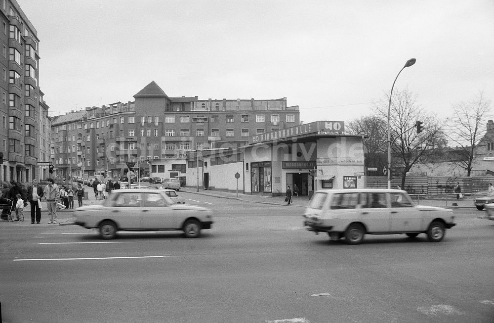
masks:
{"type": "Polygon", "coordinates": [[[453,115],[447,119],[448,138],[458,146],[459,166],[470,176],[475,149],[486,132],[485,125],[490,117],[491,101],[480,92],[470,101],[458,102],[452,107],[453,115]]]}

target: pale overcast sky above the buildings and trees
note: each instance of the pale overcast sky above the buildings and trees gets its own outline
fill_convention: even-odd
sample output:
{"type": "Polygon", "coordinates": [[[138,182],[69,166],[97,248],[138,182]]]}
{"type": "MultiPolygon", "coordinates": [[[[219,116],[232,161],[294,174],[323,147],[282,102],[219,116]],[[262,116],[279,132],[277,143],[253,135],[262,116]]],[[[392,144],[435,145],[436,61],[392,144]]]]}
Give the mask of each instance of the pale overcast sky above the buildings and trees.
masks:
{"type": "Polygon", "coordinates": [[[349,122],[387,100],[412,57],[393,91],[428,113],[494,99],[493,0],[17,1],[50,116],[133,101],[155,81],[168,96],[287,97],[304,123],[349,122]]]}

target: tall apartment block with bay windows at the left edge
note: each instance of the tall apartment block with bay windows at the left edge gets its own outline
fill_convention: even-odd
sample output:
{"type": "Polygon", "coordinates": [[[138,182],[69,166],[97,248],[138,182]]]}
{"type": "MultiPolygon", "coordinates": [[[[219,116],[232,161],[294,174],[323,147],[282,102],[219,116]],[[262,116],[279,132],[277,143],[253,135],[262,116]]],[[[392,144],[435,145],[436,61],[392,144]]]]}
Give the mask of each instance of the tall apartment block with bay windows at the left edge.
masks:
{"type": "Polygon", "coordinates": [[[40,41],[15,0],[0,0],[0,30],[0,180],[29,182],[41,177],[38,161],[49,162],[49,107],[38,81],[40,41]]]}

